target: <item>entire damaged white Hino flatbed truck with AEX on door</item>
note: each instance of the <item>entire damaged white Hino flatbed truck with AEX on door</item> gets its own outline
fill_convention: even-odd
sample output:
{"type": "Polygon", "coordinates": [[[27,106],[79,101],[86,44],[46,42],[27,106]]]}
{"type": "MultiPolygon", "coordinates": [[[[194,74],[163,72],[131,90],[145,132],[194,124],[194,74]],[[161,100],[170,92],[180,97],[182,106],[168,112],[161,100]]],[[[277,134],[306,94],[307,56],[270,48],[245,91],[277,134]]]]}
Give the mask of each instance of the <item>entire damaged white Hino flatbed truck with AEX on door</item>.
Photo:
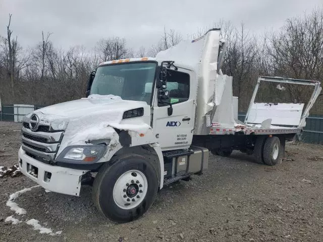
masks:
{"type": "Polygon", "coordinates": [[[240,150],[275,165],[285,141],[301,134],[320,83],[259,77],[239,122],[232,77],[221,71],[225,51],[220,29],[211,29],[155,58],[99,64],[86,98],[24,116],[21,172],[46,190],[73,196],[92,184],[98,210],[127,222],[147,211],[159,189],[202,174],[209,151],[240,150]],[[301,103],[255,103],[262,81],[314,91],[304,110],[301,103]]]}

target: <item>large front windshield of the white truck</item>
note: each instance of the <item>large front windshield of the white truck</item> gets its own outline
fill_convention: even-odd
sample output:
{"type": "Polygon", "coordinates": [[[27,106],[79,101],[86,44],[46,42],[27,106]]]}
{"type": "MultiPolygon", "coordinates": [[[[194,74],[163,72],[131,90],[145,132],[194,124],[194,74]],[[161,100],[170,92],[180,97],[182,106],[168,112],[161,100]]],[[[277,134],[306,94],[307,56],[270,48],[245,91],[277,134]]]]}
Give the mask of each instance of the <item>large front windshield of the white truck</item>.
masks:
{"type": "Polygon", "coordinates": [[[90,94],[120,96],[150,104],[157,63],[129,63],[99,67],[90,94]]]}

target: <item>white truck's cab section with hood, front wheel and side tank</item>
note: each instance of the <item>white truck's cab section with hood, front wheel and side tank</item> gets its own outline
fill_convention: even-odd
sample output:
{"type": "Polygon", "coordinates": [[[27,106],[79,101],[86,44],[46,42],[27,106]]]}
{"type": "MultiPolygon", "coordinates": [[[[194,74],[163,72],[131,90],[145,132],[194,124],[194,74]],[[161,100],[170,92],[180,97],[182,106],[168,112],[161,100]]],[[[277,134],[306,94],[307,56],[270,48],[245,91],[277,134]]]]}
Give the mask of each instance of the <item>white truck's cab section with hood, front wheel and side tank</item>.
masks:
{"type": "Polygon", "coordinates": [[[191,147],[194,82],[192,68],[173,61],[101,63],[89,77],[86,98],[24,117],[22,173],[46,190],[74,196],[91,184],[93,201],[105,216],[136,219],[164,182],[207,167],[207,149],[191,147]]]}

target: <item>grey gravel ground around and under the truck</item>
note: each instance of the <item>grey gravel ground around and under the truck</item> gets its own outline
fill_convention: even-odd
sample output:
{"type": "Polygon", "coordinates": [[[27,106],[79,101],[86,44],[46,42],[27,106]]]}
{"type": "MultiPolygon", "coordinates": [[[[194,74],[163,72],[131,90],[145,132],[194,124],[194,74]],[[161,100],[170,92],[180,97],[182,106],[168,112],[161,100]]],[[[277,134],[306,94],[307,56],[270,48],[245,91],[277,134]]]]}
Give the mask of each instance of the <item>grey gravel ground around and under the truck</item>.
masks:
{"type": "MultiPolygon", "coordinates": [[[[19,124],[0,122],[0,166],[17,163],[20,137],[19,124]]],[[[90,187],[81,197],[34,188],[16,200],[27,214],[14,215],[6,206],[10,194],[36,184],[0,178],[0,241],[323,241],[322,146],[289,144],[286,151],[292,161],[274,167],[240,152],[210,156],[203,175],[162,189],[149,211],[127,224],[105,219],[90,187]],[[4,222],[11,215],[63,232],[4,222]]]]}

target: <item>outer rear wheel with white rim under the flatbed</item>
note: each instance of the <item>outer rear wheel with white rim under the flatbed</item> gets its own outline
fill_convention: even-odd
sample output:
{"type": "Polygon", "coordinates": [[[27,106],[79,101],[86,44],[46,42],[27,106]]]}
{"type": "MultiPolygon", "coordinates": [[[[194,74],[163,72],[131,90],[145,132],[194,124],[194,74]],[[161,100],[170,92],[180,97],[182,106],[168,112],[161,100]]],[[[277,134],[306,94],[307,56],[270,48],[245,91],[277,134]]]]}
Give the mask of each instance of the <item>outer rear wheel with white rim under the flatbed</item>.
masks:
{"type": "Polygon", "coordinates": [[[266,165],[276,165],[281,157],[281,142],[278,137],[269,137],[263,146],[263,161],[266,165]]]}

